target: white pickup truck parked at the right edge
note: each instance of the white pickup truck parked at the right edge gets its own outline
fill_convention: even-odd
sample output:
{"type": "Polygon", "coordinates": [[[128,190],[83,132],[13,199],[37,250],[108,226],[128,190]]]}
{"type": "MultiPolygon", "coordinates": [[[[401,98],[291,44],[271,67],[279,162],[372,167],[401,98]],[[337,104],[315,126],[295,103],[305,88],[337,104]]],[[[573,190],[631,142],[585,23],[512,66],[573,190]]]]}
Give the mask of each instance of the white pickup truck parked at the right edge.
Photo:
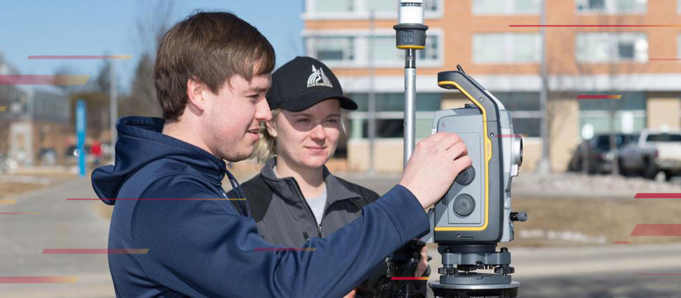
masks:
{"type": "Polygon", "coordinates": [[[681,174],[681,131],[644,129],[638,141],[619,150],[619,171],[649,179],[660,171],[667,179],[681,174]]]}

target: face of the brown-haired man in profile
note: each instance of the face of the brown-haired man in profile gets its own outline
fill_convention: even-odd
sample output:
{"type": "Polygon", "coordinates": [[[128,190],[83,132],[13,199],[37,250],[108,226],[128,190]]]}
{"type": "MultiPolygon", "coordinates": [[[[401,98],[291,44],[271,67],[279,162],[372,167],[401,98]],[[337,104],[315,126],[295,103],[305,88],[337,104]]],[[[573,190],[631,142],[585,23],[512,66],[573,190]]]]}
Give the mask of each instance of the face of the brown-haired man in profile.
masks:
{"type": "Polygon", "coordinates": [[[230,162],[250,157],[259,139],[259,123],[269,121],[272,113],[265,100],[270,87],[269,73],[246,80],[234,75],[218,94],[203,90],[207,99],[206,117],[202,119],[204,141],[213,155],[230,162]]]}

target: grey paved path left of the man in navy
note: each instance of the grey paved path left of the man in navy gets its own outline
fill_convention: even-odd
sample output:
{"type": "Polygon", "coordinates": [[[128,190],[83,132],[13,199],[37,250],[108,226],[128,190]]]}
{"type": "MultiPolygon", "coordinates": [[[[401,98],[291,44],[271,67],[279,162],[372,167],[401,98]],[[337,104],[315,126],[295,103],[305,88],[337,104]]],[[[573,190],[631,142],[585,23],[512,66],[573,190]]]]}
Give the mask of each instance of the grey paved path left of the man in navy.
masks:
{"type": "Polygon", "coordinates": [[[0,276],[79,276],[73,284],[0,284],[0,297],[114,297],[106,255],[43,255],[44,248],[106,248],[108,222],[89,180],[70,180],[24,194],[0,212],[0,276]]]}

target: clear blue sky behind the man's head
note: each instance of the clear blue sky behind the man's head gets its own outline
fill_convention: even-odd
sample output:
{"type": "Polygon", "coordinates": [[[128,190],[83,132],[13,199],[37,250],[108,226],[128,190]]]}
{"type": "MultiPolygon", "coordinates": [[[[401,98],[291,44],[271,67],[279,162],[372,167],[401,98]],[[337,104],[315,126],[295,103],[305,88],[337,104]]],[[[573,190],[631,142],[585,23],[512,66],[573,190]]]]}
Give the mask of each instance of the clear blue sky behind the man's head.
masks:
{"type": "MultiPolygon", "coordinates": [[[[118,62],[125,91],[143,50],[138,20],[150,20],[155,1],[3,1],[0,52],[22,74],[52,74],[67,66],[94,80],[101,60],[27,59],[29,55],[131,55],[118,62]]],[[[173,1],[172,23],[193,10],[229,10],[257,27],[274,46],[278,65],[303,54],[303,0],[173,1]]]]}

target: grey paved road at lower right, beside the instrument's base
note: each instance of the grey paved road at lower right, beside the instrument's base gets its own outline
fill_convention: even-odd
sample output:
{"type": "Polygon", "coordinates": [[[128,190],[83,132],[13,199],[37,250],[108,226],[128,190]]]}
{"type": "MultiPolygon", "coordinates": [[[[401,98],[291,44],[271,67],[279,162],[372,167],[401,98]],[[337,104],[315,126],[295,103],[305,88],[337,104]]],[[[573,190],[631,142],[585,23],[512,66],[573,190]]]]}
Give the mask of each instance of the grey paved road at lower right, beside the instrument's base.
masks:
{"type": "MultiPolygon", "coordinates": [[[[512,248],[522,298],[681,297],[681,243],[582,248],[512,248]]],[[[431,267],[440,256],[431,249],[431,267]]],[[[432,279],[437,278],[434,276],[432,279]]]]}

